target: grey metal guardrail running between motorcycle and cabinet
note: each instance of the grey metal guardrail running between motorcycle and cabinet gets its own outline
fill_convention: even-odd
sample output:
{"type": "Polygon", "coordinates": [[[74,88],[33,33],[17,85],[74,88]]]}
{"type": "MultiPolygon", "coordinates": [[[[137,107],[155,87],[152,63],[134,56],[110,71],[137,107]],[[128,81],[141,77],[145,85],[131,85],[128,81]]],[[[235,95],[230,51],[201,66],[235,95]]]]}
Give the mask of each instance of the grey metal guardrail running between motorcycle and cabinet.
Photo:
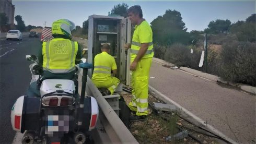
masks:
{"type": "MultiPolygon", "coordinates": [[[[81,78],[80,74],[78,79],[81,78]]],[[[82,85],[79,83],[79,86],[82,85]]],[[[92,130],[95,143],[138,143],[89,77],[87,77],[86,93],[97,100],[100,110],[96,128],[92,130]]]]}

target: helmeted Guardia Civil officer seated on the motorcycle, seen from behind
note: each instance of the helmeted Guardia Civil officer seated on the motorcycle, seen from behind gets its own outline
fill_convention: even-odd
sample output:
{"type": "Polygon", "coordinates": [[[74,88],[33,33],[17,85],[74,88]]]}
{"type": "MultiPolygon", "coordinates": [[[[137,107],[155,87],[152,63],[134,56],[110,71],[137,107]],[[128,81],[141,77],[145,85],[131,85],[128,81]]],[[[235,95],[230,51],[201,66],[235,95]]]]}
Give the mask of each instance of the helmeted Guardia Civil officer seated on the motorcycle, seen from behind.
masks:
{"type": "MultiPolygon", "coordinates": [[[[71,79],[78,83],[75,64],[80,62],[82,51],[77,42],[71,41],[71,31],[74,29],[75,24],[67,19],[59,19],[52,23],[54,39],[43,42],[38,54],[38,64],[43,70],[42,79],[71,79]]],[[[31,83],[27,94],[39,96],[40,92],[35,90],[36,87],[37,83],[31,83]]]]}

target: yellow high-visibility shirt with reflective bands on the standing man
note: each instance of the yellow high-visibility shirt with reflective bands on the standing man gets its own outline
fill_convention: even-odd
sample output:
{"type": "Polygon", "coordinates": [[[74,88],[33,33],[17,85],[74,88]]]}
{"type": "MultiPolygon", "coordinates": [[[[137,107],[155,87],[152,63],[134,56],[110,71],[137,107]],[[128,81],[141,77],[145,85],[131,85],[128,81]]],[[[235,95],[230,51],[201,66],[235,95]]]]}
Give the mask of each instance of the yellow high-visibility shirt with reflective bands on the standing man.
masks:
{"type": "Polygon", "coordinates": [[[133,33],[133,39],[131,44],[131,59],[134,60],[137,56],[139,49],[141,49],[141,43],[148,43],[148,49],[142,58],[148,58],[154,56],[153,51],[153,32],[146,20],[140,25],[135,26],[133,33]]]}

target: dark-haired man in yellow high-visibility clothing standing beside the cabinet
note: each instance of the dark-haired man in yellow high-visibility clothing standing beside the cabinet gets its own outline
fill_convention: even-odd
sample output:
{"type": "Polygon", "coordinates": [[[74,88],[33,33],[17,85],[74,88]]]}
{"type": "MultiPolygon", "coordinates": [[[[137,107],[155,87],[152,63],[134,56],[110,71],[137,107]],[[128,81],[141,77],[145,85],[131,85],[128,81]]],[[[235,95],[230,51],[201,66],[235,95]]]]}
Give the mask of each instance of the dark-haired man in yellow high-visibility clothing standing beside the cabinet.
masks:
{"type": "Polygon", "coordinates": [[[132,71],[133,98],[129,107],[136,114],[130,116],[130,121],[137,122],[144,121],[148,114],[149,70],[154,56],[153,33],[148,22],[142,18],[142,9],[139,5],[130,7],[127,14],[131,22],[136,25],[132,44],[125,44],[124,48],[129,49],[131,47],[130,70],[132,71]]]}

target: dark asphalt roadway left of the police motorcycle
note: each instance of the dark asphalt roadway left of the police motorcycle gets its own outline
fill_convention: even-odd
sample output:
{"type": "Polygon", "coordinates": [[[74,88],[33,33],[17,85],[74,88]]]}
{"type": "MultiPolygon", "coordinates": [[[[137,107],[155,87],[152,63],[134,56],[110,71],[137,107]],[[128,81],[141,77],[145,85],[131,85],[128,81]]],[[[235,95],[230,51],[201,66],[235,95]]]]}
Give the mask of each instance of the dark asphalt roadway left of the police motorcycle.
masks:
{"type": "Polygon", "coordinates": [[[23,36],[22,41],[0,40],[0,143],[11,143],[15,131],[10,124],[10,110],[16,99],[24,95],[31,73],[26,54],[38,53],[39,38],[23,36]]]}

